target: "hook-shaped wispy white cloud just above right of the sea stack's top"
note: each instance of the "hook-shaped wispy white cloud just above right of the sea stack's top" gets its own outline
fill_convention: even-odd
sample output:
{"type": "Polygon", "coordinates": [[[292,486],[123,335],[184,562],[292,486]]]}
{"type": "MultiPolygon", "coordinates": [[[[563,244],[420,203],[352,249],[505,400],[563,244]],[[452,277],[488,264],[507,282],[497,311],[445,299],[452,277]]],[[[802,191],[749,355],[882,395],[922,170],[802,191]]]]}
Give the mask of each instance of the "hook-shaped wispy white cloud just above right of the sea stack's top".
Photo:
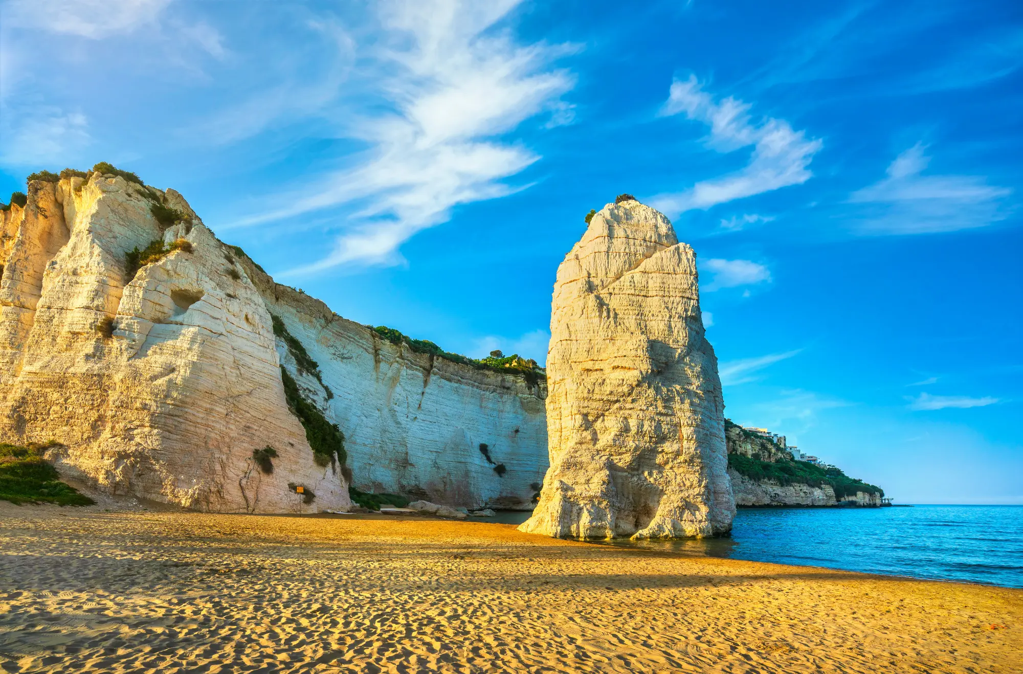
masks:
{"type": "Polygon", "coordinates": [[[662,116],[684,113],[690,120],[710,127],[707,145],[719,152],[731,152],[753,146],[746,167],[735,173],[696,183],[692,188],[652,199],[654,208],[674,217],[684,211],[709,209],[737,198],[768,192],[789,185],[806,182],[813,155],[820,149],[820,140],[809,140],[803,131],[794,131],[785,120],[767,118],[754,122],[750,105],[727,97],[715,102],[704,91],[696,76],[675,80],[662,116]]]}

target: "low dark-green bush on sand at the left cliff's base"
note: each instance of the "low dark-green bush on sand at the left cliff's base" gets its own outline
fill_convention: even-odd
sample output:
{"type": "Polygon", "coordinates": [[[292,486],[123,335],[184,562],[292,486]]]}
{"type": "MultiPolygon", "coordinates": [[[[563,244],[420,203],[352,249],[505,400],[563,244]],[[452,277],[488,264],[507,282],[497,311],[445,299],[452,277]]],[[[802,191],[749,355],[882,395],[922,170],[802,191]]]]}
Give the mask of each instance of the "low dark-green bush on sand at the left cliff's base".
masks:
{"type": "Polygon", "coordinates": [[[0,500],[11,503],[92,505],[88,496],[60,482],[56,468],[43,458],[45,446],[0,443],[0,500]]]}

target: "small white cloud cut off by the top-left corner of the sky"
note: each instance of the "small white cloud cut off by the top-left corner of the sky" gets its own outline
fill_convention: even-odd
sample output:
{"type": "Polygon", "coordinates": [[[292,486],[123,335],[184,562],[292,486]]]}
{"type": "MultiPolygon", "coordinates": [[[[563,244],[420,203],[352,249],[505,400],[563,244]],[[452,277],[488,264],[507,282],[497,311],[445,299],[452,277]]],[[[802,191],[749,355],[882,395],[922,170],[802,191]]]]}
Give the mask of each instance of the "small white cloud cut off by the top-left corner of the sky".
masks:
{"type": "Polygon", "coordinates": [[[172,0],[8,0],[4,21],[99,40],[157,20],[172,0]]]}

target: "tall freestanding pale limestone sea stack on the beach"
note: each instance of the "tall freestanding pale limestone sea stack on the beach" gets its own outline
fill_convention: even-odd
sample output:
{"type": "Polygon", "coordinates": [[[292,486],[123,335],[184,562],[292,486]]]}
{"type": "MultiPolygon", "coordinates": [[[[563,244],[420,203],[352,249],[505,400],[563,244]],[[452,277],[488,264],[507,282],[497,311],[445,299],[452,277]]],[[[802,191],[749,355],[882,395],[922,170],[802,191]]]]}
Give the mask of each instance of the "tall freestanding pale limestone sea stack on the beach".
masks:
{"type": "Polygon", "coordinates": [[[547,355],[550,467],[520,529],[560,538],[717,536],[736,512],[724,404],[696,255],[629,195],[558,268],[547,355]]]}

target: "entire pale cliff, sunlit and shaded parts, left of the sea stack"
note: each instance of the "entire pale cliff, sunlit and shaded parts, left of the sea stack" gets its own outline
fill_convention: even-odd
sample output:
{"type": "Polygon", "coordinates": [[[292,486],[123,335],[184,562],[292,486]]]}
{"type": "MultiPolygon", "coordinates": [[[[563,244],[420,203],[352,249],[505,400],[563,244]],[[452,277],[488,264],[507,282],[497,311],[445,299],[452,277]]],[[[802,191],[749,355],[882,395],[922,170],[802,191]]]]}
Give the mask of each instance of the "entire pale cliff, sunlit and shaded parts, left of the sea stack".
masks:
{"type": "Polygon", "coordinates": [[[98,173],[32,181],[25,208],[2,213],[0,265],[0,441],[57,441],[64,473],[215,511],[346,509],[349,479],[452,505],[532,505],[546,468],[542,381],[381,340],[274,283],[174,190],[98,173]],[[155,252],[137,273],[133,250],[155,252]],[[347,466],[314,454],[281,365],[344,433],[347,466]],[[267,446],[271,473],[253,455],[267,446]]]}

